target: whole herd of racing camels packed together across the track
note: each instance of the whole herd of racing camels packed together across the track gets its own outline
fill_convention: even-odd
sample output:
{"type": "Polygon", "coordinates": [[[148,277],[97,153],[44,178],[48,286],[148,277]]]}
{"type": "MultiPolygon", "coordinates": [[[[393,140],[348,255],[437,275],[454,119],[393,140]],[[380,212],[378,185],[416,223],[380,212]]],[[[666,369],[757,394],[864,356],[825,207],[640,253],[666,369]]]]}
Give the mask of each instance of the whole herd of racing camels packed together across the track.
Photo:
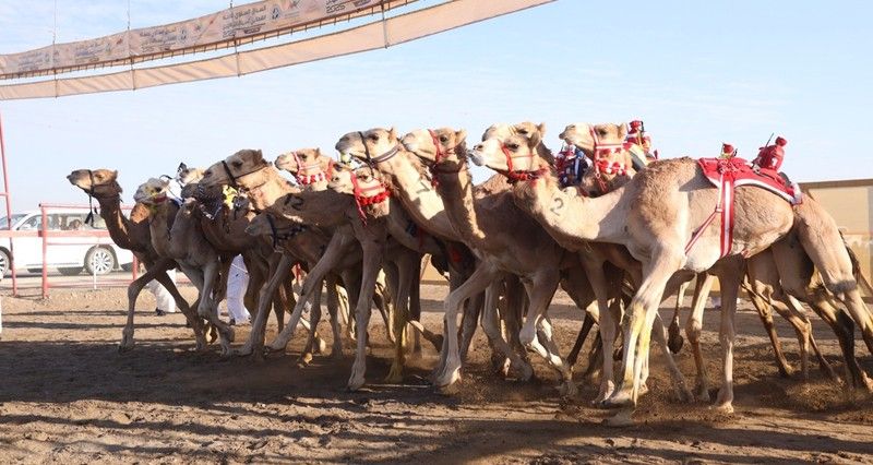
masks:
{"type": "MultiPolygon", "coordinates": [[[[318,148],[289,152],[275,163],[261,151],[243,150],[203,170],[180,166],[175,178],[150,179],[137,189],[129,217],[121,212],[117,171],[80,169],[68,179],[99,202],[112,240],[133,251],[147,270],[128,289],[122,350],[133,347],[134,303],[151,279],[172,294],[198,349],[207,347],[210,336],[217,337],[223,356],[284,351],[298,326],[306,330],[304,354],[325,350],[316,332],[324,293],[332,356],[343,356],[344,337],[357,344],[351,390],[366,382],[367,327],[375,306],[395,347],[388,381],[403,379],[407,341],[420,349],[423,337],[440,351],[433,384],[454,385],[480,324],[495,369],[529,379],[528,353],[536,353],[555,370],[561,394],[572,396],[573,365],[597,324],[599,344],[589,354],[600,370],[595,403],[617,409],[610,424],[626,425],[646,392],[651,337],[662,349],[677,395],[708,401],[699,338],[707,295],[718,278],[723,377],[716,408],[732,410],[733,317],[741,288],[761,314],[782,373],[790,367],[772,310],[796,329],[804,377],[812,349],[822,369],[847,389],[873,390],[854,357],[856,325],[873,351],[873,318],[859,287],[870,285],[836,223],[814,199],[792,205],[764,189],[737,188],[732,240],[725,252],[720,219],[702,226],[711,222],[720,192],[696,160],[658,160],[638,172],[627,164],[612,172],[589,169],[562,186],[560,160],[542,143],[545,131],[543,124],[530,122],[495,124],[473,147],[465,131],[447,128],[405,135],[394,129],[355,131],[336,143],[339,162],[318,148]],[[469,162],[497,174],[474,186],[469,162]],[[251,276],[247,307],[258,311],[248,341],[234,348],[234,327],[219,318],[218,302],[237,254],[251,276]],[[444,325],[436,333],[419,321],[426,255],[451,289],[444,325]],[[297,296],[290,279],[295,265],[306,270],[297,296]],[[196,286],[193,305],[167,276],[172,267],[196,286]],[[678,312],[668,332],[658,307],[677,291],[681,296],[695,277],[685,327],[697,368],[692,390],[671,351],[682,343],[678,312]],[[585,312],[567,357],[554,342],[548,317],[559,286],[585,312]],[[350,309],[344,333],[345,296],[350,309]],[[835,332],[845,375],[821,356],[802,303],[835,332]],[[271,308],[279,333],[265,346],[271,308]],[[283,324],[286,309],[290,321],[283,324]]],[[[590,159],[621,164],[627,157],[626,132],[625,124],[576,123],[560,138],[590,159]]],[[[680,305],[681,297],[677,309],[680,305]]]]}

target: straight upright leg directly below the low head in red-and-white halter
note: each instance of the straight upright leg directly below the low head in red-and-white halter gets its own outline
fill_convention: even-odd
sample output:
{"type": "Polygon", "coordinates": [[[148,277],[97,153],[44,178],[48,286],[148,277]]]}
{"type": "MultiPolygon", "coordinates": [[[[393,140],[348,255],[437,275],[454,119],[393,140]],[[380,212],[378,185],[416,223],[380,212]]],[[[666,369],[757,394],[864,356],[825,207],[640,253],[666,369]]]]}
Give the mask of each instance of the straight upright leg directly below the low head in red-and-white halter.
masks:
{"type": "Polygon", "coordinates": [[[363,274],[361,276],[361,289],[355,308],[355,326],[358,335],[358,347],[355,354],[355,363],[351,366],[346,386],[349,391],[357,391],[364,383],[367,372],[367,327],[370,324],[370,308],[375,293],[375,283],[379,278],[379,269],[382,264],[385,238],[367,238],[361,240],[363,248],[363,274]]]}

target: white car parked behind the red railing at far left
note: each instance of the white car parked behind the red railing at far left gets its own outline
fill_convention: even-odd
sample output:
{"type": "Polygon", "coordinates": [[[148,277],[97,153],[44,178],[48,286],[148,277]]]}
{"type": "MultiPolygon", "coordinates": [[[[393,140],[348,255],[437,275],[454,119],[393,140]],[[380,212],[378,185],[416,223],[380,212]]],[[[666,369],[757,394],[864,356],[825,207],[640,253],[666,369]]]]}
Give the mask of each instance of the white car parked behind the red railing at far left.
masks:
{"type": "MultiPolygon", "coordinates": [[[[51,208],[46,214],[49,231],[64,230],[106,230],[103,218],[95,215],[94,227],[85,224],[87,210],[51,208]]],[[[13,214],[11,218],[0,218],[0,230],[5,230],[8,222],[12,230],[37,231],[43,229],[40,211],[13,214]]],[[[84,269],[88,274],[107,274],[121,266],[131,270],[133,254],[130,250],[116,246],[108,236],[52,237],[49,233],[46,249],[46,264],[57,267],[64,275],[76,275],[84,269]]],[[[0,276],[9,272],[11,252],[15,253],[15,270],[40,272],[43,270],[43,238],[34,236],[0,237],[0,276]],[[12,241],[10,248],[10,240],[12,241]]]]}

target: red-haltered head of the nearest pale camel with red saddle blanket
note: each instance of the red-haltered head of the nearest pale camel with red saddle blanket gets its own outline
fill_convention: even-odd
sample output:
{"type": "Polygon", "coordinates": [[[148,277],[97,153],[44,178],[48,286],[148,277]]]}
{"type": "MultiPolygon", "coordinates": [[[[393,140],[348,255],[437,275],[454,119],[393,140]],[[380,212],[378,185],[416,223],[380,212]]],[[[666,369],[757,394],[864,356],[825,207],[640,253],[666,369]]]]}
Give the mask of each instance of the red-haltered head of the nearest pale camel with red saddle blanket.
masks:
{"type": "Polygon", "coordinates": [[[510,179],[518,180],[525,178],[524,174],[549,168],[549,162],[537,151],[540,142],[538,132],[530,136],[491,136],[473,147],[470,159],[476,165],[488,166],[510,179]]]}

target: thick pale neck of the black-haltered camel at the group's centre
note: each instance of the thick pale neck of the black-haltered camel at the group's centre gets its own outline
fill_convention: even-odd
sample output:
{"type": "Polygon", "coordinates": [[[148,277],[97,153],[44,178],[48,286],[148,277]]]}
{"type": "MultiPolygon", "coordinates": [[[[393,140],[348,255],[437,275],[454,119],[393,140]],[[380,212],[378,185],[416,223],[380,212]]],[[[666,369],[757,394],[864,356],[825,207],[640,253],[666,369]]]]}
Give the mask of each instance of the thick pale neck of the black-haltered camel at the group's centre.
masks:
{"type": "Polygon", "coordinates": [[[379,168],[393,178],[397,199],[416,225],[442,239],[459,239],[458,233],[443,214],[443,199],[424,177],[426,168],[414,153],[402,148],[397,156],[380,164],[379,168]]]}

